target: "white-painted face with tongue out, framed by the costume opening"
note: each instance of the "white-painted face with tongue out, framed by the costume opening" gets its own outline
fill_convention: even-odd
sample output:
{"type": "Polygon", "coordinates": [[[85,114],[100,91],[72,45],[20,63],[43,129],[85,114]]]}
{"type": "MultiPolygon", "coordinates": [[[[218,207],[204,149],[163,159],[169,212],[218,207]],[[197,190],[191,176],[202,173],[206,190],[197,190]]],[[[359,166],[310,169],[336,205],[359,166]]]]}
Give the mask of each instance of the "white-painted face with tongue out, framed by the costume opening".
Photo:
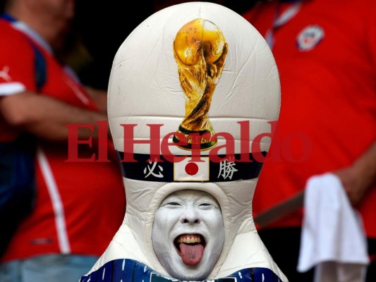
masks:
{"type": "Polygon", "coordinates": [[[217,200],[207,192],[179,190],[167,196],[154,216],[154,252],[174,278],[202,281],[224,245],[224,223],[217,200]]]}

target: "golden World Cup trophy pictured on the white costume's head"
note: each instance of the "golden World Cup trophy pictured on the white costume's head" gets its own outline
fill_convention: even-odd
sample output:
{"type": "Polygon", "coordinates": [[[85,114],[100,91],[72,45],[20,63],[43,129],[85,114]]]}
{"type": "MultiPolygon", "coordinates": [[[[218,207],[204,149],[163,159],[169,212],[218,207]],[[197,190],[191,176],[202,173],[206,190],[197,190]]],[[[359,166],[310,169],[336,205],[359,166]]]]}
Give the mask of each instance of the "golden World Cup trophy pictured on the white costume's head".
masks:
{"type": "Polygon", "coordinates": [[[178,147],[205,150],[217,145],[208,114],[226,54],[224,35],[210,20],[192,20],[178,31],[174,56],[186,98],[186,114],[173,138],[178,147]]]}

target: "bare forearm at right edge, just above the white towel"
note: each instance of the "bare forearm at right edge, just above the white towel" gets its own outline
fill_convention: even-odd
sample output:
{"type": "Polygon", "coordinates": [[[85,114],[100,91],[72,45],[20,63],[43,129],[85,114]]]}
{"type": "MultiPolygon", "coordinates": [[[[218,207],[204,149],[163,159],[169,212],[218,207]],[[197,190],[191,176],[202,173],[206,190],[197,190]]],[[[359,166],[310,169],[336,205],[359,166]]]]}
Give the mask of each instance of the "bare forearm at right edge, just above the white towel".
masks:
{"type": "Polygon", "coordinates": [[[376,141],[352,166],[335,171],[353,207],[356,207],[376,181],[376,141]]]}

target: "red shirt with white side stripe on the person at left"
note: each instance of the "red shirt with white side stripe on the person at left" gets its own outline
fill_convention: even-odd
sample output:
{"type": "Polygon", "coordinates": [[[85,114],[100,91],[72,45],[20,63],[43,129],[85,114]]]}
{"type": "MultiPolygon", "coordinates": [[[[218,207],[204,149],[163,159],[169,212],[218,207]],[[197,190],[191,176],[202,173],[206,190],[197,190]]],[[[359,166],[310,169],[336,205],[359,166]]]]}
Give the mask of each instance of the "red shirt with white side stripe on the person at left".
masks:
{"type": "MultiPolygon", "coordinates": [[[[12,94],[12,87],[35,91],[35,53],[27,36],[3,19],[0,30],[0,95],[12,94]]],[[[47,70],[42,94],[97,111],[82,85],[47,49],[38,47],[47,70]]],[[[13,134],[1,121],[0,133],[13,134]]],[[[66,142],[40,142],[35,209],[19,226],[3,261],[47,253],[99,256],[119,229],[126,199],[112,142],[108,143],[110,162],[67,162],[67,147],[66,142]]],[[[97,148],[82,146],[80,152],[97,154],[97,148]]]]}

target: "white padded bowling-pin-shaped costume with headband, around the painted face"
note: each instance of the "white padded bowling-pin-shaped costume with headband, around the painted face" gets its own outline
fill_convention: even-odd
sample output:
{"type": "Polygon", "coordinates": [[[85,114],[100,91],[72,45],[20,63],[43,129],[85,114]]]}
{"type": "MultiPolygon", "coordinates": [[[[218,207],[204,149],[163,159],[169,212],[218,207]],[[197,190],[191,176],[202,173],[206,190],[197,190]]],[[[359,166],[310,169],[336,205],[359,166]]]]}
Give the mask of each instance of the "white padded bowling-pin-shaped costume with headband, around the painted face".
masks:
{"type": "Polygon", "coordinates": [[[172,192],[200,190],[217,200],[224,226],[222,252],[205,280],[286,282],[252,216],[270,143],[265,133],[279,106],[272,52],[229,8],[188,2],[138,25],[121,44],[109,79],[126,215],[80,281],[178,281],[154,252],[154,215],[172,192]]]}

